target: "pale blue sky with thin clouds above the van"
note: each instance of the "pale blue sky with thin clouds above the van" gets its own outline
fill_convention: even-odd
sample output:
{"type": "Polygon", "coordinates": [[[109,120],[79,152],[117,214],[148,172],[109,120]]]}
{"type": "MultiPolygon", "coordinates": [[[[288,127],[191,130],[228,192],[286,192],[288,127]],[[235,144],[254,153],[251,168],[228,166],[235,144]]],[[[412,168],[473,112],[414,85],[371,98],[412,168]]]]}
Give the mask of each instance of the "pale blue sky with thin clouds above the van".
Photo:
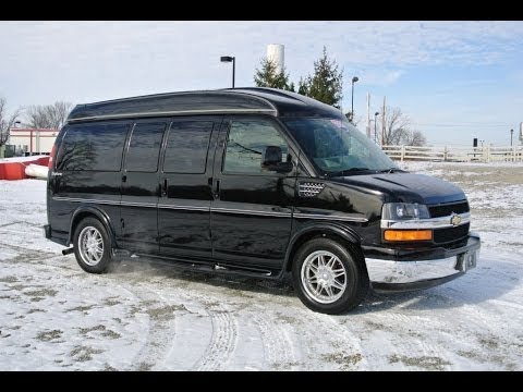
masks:
{"type": "MultiPolygon", "coordinates": [[[[327,47],[343,70],[343,111],[384,96],[431,145],[509,145],[523,121],[523,22],[0,22],[0,97],[10,110],[143,94],[253,86],[268,44],[297,85],[327,47]]],[[[365,120],[360,122],[365,130],[365,120]]],[[[374,125],[373,125],[374,126],[374,125]]]]}

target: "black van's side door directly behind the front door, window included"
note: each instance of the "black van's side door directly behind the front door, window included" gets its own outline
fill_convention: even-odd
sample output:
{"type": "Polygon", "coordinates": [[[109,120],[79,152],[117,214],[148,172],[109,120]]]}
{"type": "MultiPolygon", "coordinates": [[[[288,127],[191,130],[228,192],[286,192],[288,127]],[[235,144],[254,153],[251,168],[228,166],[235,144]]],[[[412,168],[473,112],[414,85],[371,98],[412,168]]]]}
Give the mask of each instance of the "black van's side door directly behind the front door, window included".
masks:
{"type": "Polygon", "coordinates": [[[158,205],[162,256],[211,258],[212,156],[221,120],[222,117],[191,117],[171,123],[162,157],[158,205]]]}

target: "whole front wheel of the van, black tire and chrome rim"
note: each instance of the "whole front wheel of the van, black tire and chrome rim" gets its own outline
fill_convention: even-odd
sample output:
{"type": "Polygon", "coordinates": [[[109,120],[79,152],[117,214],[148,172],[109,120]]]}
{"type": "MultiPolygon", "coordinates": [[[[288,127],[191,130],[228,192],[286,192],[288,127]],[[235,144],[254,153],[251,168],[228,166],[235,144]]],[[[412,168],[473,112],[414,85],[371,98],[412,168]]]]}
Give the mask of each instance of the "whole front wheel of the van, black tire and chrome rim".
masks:
{"type": "Polygon", "coordinates": [[[363,257],[329,238],[302,245],[292,265],[292,279],[303,304],[328,315],[353,309],[369,289],[363,257]]]}

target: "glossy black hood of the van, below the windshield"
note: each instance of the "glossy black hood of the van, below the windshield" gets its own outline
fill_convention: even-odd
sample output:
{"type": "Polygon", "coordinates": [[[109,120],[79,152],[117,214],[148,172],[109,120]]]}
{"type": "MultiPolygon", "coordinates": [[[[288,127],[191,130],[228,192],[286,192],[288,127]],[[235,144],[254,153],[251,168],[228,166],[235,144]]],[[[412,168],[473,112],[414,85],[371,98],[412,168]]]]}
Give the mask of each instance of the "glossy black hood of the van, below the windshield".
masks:
{"type": "Polygon", "coordinates": [[[414,173],[378,173],[338,176],[335,182],[382,193],[386,203],[436,205],[466,199],[463,191],[447,181],[414,173]]]}

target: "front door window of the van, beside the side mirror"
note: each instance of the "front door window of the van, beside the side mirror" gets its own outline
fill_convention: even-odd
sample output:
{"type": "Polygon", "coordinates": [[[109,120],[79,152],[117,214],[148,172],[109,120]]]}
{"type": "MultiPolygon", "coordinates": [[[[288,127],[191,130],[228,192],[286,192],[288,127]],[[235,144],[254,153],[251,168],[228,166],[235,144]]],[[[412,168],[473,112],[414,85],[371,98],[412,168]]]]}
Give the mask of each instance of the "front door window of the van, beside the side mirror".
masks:
{"type": "Polygon", "coordinates": [[[278,130],[265,120],[232,121],[227,137],[224,172],[262,173],[262,154],[267,146],[281,148],[285,160],[289,152],[287,142],[278,130]]]}

